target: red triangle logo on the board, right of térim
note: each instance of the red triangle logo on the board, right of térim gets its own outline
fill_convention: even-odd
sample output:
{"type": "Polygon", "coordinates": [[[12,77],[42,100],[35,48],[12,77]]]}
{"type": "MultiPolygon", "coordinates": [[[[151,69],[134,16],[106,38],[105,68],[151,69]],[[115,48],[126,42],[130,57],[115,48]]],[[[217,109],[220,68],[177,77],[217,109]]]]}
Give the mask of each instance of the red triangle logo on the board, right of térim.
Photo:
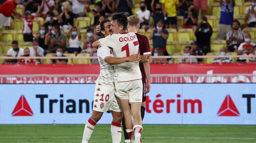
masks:
{"type": "Polygon", "coordinates": [[[217,115],[218,116],[239,116],[240,115],[230,95],[227,95],[226,98],[224,99],[217,115]]]}

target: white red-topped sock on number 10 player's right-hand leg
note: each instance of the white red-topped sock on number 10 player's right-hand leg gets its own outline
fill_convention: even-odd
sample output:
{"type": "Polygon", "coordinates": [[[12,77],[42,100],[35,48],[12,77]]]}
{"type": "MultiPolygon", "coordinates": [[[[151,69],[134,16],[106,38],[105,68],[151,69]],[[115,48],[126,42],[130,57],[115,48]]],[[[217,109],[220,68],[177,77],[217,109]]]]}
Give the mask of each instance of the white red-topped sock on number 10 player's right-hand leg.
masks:
{"type": "Polygon", "coordinates": [[[113,143],[120,143],[122,138],[122,125],[120,123],[111,123],[111,136],[113,143]]]}

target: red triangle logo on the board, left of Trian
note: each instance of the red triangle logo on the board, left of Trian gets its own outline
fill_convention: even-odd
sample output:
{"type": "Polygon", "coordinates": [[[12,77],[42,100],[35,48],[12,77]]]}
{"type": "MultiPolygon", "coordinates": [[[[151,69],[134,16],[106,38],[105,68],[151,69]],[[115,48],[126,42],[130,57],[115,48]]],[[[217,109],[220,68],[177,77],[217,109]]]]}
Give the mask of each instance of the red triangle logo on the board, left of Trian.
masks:
{"type": "Polygon", "coordinates": [[[13,109],[12,116],[33,116],[33,111],[31,110],[24,95],[20,96],[20,99],[13,109]]]}

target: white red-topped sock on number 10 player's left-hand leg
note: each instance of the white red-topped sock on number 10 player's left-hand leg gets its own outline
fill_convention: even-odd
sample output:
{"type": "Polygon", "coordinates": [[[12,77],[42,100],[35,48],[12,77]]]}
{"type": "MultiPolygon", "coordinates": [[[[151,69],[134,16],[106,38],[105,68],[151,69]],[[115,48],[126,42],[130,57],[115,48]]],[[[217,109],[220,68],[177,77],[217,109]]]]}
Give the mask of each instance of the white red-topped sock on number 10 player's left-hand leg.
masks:
{"type": "Polygon", "coordinates": [[[89,118],[85,124],[83,130],[83,140],[82,143],[88,143],[89,139],[91,138],[91,134],[93,134],[94,127],[97,122],[93,121],[93,119],[89,118]]]}

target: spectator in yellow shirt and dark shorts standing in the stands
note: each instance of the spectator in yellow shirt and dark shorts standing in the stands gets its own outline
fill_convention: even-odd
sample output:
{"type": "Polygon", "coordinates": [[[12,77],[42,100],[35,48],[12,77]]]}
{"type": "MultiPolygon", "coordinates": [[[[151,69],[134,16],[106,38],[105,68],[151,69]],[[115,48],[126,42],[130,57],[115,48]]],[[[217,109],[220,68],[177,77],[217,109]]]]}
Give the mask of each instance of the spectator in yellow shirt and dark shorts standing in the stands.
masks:
{"type": "Polygon", "coordinates": [[[174,29],[177,29],[177,9],[180,8],[178,0],[162,0],[162,10],[163,15],[165,16],[165,28],[169,28],[171,23],[174,29]]]}

